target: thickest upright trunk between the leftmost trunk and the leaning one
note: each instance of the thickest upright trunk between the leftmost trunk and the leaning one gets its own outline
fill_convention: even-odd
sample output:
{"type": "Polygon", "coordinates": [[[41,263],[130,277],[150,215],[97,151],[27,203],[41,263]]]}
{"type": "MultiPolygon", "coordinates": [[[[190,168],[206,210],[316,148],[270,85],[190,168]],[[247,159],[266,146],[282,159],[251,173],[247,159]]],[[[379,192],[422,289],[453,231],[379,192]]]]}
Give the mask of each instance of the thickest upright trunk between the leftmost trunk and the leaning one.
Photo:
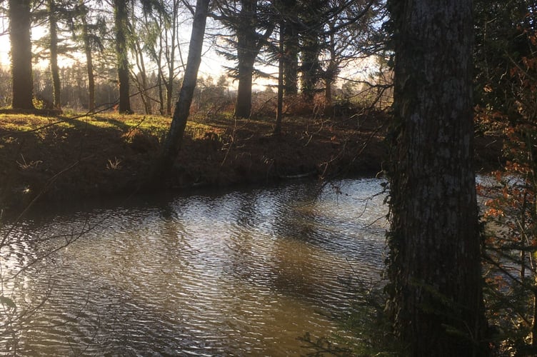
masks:
{"type": "Polygon", "coordinates": [[[116,31],[116,58],[119,82],[119,113],[131,114],[129,91],[129,59],[127,32],[129,31],[129,11],[127,1],[114,0],[114,20],[116,31]]]}

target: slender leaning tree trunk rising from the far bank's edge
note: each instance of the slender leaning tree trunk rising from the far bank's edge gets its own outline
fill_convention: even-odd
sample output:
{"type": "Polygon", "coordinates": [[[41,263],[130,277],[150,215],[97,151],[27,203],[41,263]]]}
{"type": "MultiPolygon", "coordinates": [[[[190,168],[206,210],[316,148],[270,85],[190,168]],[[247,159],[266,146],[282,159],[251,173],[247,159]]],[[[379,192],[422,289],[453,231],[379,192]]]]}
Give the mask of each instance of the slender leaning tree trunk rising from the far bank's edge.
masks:
{"type": "Polygon", "coordinates": [[[164,143],[163,153],[156,171],[154,180],[161,178],[162,174],[171,170],[174,161],[181,149],[186,121],[189,119],[190,106],[196,89],[198,79],[198,70],[201,63],[201,50],[204,46],[205,25],[207,21],[207,12],[209,9],[209,0],[197,0],[194,22],[192,23],[192,33],[189,45],[189,57],[186,62],[186,69],[179,92],[179,100],[176,103],[174,116],[171,121],[170,130],[164,143]]]}

